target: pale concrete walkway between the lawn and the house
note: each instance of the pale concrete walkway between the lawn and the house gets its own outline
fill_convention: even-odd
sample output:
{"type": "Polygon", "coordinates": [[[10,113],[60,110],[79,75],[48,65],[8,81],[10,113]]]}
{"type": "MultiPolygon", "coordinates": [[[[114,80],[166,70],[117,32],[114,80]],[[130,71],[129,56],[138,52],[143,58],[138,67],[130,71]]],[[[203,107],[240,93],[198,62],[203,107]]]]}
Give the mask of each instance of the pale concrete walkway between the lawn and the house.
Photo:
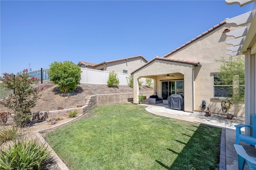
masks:
{"type": "MultiPolygon", "coordinates": [[[[188,113],[170,109],[168,105],[164,105],[162,103],[156,105],[148,104],[146,100],[144,100],[142,105],[146,106],[146,111],[155,115],[222,128],[220,170],[238,170],[238,155],[233,146],[236,137],[234,125],[244,124],[244,117],[235,116],[232,120],[226,119],[223,115],[219,114],[212,114],[212,116],[206,117],[202,112],[188,113]]],[[[240,142],[240,145],[243,145],[244,149],[250,156],[256,157],[255,147],[243,142],[240,142]]],[[[247,164],[244,170],[249,170],[247,164]]]]}

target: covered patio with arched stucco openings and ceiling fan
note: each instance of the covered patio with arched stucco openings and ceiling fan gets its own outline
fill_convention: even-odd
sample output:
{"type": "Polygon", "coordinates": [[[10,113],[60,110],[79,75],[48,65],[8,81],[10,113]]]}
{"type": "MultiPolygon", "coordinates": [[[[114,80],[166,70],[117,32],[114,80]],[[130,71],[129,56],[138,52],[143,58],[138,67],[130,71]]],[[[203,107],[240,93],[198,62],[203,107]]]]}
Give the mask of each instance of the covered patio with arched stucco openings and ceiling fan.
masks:
{"type": "Polygon", "coordinates": [[[196,76],[194,70],[200,66],[198,61],[155,57],[132,72],[134,76],[134,104],[138,104],[140,78],[152,78],[154,80],[154,95],[166,100],[171,94],[180,94],[184,96],[184,111],[192,112],[194,110],[193,80],[196,76]]]}

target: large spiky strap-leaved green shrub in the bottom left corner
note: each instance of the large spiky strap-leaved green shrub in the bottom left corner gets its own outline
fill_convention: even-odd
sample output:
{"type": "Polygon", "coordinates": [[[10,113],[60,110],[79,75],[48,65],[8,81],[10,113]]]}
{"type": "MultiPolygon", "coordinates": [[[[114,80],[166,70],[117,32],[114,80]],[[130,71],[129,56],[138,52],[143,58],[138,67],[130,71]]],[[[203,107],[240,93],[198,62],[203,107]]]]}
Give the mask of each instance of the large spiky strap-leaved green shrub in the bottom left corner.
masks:
{"type": "Polygon", "coordinates": [[[36,141],[14,141],[13,147],[0,149],[0,170],[40,170],[54,157],[36,141]]]}

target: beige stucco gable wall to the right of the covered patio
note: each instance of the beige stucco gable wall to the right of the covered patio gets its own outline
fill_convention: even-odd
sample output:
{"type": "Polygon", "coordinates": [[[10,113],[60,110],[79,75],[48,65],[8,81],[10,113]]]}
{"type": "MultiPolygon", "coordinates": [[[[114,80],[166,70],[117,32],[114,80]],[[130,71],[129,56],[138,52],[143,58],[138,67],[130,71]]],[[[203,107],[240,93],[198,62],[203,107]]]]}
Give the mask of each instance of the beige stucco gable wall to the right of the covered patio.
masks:
{"type": "MultiPolygon", "coordinates": [[[[230,28],[230,30],[239,29],[235,25],[224,24],[222,27],[217,28],[215,31],[208,33],[204,37],[198,39],[194,43],[186,45],[180,51],[170,55],[174,59],[184,59],[190,61],[200,61],[201,67],[195,70],[195,111],[201,111],[202,100],[206,101],[206,107],[209,107],[213,113],[222,113],[221,102],[226,98],[214,98],[214,78],[212,72],[218,72],[222,63],[216,62],[216,60],[224,59],[228,60],[229,56],[226,47],[226,41],[233,39],[226,36],[223,33],[224,29],[230,28]]],[[[169,58],[169,57],[168,57],[169,58]]],[[[186,93],[186,91],[185,91],[186,93]]],[[[242,104],[243,106],[243,104],[242,104]]],[[[244,109],[237,109],[231,106],[230,113],[234,115],[243,116],[244,109]]]]}

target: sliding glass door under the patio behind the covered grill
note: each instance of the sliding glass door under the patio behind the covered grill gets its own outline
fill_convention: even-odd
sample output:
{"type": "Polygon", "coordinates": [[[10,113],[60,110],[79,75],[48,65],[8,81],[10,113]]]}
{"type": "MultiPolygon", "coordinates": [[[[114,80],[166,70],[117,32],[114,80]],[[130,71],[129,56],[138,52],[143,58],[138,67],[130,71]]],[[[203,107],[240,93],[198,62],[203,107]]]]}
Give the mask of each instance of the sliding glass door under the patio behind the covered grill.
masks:
{"type": "Polygon", "coordinates": [[[171,94],[184,96],[184,80],[162,81],[162,98],[167,99],[171,94]]]}

